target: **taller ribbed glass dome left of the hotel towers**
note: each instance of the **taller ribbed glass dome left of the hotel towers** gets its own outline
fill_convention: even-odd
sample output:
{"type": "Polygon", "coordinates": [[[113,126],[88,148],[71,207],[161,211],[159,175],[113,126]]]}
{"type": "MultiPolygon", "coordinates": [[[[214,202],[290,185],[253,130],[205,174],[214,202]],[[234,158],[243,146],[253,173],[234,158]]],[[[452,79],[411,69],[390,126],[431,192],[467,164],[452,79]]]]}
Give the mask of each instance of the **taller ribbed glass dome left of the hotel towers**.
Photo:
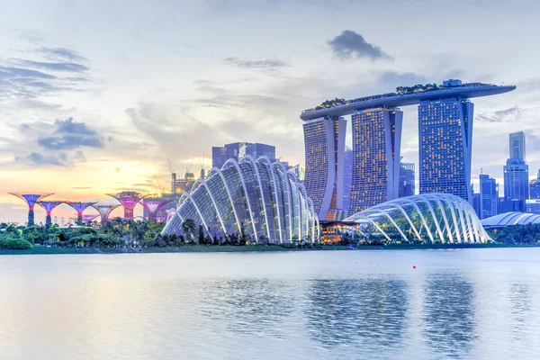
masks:
{"type": "Polygon", "coordinates": [[[182,221],[193,220],[211,237],[242,234],[257,242],[284,243],[319,238],[313,202],[293,173],[267,157],[229,159],[213,167],[206,180],[184,193],[170,211],[162,234],[182,234],[182,221]]]}

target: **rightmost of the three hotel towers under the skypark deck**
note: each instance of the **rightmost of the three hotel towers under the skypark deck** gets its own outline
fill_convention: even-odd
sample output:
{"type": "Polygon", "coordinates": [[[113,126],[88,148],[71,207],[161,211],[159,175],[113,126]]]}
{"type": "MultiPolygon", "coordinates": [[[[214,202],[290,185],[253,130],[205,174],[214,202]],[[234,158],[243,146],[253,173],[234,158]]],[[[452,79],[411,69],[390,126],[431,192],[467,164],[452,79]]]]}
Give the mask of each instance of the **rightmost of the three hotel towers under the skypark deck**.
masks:
{"type": "Polygon", "coordinates": [[[419,104],[420,193],[452,193],[472,201],[473,109],[461,97],[419,104]]]}

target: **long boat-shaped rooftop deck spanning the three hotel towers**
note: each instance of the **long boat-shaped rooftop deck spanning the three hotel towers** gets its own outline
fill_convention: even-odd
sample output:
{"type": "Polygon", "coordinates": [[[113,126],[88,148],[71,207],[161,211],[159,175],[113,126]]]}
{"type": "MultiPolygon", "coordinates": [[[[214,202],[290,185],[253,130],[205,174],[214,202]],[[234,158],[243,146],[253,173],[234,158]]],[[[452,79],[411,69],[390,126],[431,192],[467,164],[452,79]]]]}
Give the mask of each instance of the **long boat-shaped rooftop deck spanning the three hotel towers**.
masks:
{"type": "Polygon", "coordinates": [[[516,89],[515,85],[492,85],[482,83],[462,84],[460,80],[447,80],[443,85],[428,84],[399,86],[396,93],[377,94],[359,97],[352,100],[334,99],[319,106],[304,110],[300,115],[303,121],[318,119],[324,116],[345,116],[356,110],[375,107],[399,107],[414,105],[425,100],[438,100],[451,97],[480,97],[508,93],[516,89]]]}

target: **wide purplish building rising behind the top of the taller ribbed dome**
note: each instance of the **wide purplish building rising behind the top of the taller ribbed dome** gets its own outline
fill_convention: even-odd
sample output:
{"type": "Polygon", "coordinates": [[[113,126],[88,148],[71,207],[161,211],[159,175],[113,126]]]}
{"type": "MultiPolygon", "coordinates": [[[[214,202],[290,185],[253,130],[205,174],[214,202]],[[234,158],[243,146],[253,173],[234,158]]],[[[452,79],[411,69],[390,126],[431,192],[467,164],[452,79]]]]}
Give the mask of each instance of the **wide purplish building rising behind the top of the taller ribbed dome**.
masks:
{"type": "Polygon", "coordinates": [[[212,147],[211,166],[221,168],[229,158],[234,158],[238,162],[247,155],[253,158],[268,157],[274,162],[275,147],[257,142],[233,142],[223,147],[212,147]]]}

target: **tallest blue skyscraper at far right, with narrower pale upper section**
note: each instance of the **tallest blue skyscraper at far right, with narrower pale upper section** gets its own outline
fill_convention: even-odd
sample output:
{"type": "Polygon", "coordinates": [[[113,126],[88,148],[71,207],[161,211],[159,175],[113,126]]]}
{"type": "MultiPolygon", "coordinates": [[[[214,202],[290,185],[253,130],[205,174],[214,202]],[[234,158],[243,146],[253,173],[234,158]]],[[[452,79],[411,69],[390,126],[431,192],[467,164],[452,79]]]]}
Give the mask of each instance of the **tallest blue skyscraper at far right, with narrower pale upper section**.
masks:
{"type": "MultiPolygon", "coordinates": [[[[515,202],[512,208],[525,211],[525,201],[529,199],[528,165],[525,157],[525,133],[515,132],[509,135],[509,155],[504,166],[504,200],[515,202]]],[[[510,206],[503,204],[503,210],[510,206]]]]}

